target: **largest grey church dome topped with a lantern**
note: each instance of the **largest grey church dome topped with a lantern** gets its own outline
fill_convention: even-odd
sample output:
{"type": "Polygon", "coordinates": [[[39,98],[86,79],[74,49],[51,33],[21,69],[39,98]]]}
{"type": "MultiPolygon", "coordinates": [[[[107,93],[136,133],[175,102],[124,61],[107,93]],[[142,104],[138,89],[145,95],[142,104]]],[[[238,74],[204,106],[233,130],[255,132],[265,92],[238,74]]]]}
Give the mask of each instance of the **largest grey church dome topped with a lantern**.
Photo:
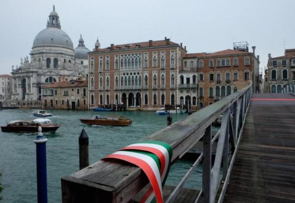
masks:
{"type": "Polygon", "coordinates": [[[33,41],[33,47],[43,46],[57,46],[69,49],[74,49],[71,38],[60,29],[59,15],[53,8],[53,11],[49,14],[47,21],[47,28],[41,30],[33,41]]]}

